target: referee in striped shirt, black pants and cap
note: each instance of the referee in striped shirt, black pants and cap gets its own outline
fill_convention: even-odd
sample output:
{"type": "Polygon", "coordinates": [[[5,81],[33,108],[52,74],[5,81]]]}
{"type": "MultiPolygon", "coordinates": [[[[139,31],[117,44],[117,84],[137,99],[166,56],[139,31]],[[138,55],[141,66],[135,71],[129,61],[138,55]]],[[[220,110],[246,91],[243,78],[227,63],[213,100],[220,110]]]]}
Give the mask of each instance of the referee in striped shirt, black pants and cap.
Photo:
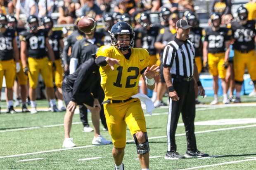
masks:
{"type": "Polygon", "coordinates": [[[176,23],[177,35],[168,42],[163,53],[164,79],[169,91],[169,110],[167,122],[166,159],[198,158],[209,156],[197,150],[194,135],[195,92],[194,79],[198,85],[199,95],[204,96],[204,88],[199,81],[197,65],[194,61],[194,45],[189,38],[190,28],[187,20],[180,19],[176,23]],[[187,152],[180,155],[176,149],[175,132],[178,119],[182,115],[187,137],[187,152]]]}

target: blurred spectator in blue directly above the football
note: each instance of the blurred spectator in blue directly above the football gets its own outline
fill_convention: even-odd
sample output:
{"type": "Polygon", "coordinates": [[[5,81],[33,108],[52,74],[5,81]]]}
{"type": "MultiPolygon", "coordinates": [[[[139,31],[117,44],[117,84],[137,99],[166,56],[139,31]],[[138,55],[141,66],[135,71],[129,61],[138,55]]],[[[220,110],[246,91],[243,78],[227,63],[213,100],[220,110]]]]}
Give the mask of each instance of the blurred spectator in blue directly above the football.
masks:
{"type": "Polygon", "coordinates": [[[102,10],[94,2],[94,0],[85,0],[85,4],[81,9],[81,16],[90,16],[98,21],[102,17],[102,10]]]}

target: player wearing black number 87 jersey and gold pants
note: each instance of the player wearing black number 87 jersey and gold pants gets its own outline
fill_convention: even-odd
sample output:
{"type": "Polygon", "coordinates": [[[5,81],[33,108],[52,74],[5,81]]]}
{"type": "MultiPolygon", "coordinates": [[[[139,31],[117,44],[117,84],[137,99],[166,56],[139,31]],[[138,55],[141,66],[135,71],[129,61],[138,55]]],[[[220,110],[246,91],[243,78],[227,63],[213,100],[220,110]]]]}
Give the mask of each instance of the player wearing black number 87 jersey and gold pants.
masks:
{"type": "Polygon", "coordinates": [[[20,33],[21,40],[21,62],[23,71],[28,75],[29,90],[28,95],[31,100],[31,114],[37,113],[36,110],[36,86],[39,73],[42,75],[45,86],[47,86],[47,96],[50,98],[51,111],[59,112],[56,106],[55,93],[52,81],[52,72],[49,69],[48,57],[52,61],[55,70],[55,58],[52,47],[49,44],[47,31],[38,30],[38,18],[34,15],[28,16],[29,30],[20,33]],[[46,51],[47,49],[47,51],[46,51]]]}

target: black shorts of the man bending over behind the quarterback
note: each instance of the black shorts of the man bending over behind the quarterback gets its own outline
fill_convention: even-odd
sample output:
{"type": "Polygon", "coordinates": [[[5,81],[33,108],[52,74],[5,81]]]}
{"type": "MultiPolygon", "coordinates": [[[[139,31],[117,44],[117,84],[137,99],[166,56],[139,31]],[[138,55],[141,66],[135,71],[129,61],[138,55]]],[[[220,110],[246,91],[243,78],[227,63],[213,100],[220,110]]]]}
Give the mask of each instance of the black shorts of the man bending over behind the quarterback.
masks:
{"type": "MultiPolygon", "coordinates": [[[[66,84],[65,82],[66,81],[64,79],[62,82],[62,95],[64,98],[64,102],[67,106],[71,101],[73,88],[68,84],[66,84]]],[[[83,105],[84,103],[86,105],[93,107],[94,98],[93,98],[93,95],[91,95],[90,93],[79,93],[78,95],[76,95],[76,99],[77,100],[75,102],[77,105],[83,105]]]]}

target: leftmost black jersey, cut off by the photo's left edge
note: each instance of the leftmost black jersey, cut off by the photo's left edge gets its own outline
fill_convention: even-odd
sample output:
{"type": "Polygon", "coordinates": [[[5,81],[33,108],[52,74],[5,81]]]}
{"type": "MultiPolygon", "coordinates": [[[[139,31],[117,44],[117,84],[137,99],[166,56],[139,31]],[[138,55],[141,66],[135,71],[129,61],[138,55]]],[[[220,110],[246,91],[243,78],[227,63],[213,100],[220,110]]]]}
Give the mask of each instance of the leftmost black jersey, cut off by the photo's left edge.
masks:
{"type": "Polygon", "coordinates": [[[16,37],[15,30],[6,29],[0,33],[0,61],[13,59],[13,39],[16,37]]]}

